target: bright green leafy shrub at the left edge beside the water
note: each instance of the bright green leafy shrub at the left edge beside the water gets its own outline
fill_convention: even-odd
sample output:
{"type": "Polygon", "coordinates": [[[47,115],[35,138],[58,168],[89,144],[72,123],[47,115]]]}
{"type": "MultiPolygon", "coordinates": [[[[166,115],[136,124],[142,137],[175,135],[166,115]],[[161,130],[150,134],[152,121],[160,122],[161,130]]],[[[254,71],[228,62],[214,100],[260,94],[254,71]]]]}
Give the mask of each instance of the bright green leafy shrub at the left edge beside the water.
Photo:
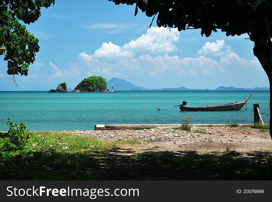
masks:
{"type": "Polygon", "coordinates": [[[9,131],[8,133],[2,134],[2,137],[0,137],[0,151],[7,152],[24,149],[30,135],[32,135],[30,129],[25,130],[26,122],[20,123],[19,125],[17,123],[13,125],[11,119],[8,118],[6,124],[9,125],[9,131]]]}

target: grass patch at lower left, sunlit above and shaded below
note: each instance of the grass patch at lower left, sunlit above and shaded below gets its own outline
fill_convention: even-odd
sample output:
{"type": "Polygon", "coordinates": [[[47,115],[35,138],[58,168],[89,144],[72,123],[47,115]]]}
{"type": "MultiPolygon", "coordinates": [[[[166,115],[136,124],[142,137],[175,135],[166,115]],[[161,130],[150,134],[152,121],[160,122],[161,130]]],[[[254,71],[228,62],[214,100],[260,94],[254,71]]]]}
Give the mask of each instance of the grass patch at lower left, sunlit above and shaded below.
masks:
{"type": "Polygon", "coordinates": [[[1,180],[103,180],[94,169],[96,159],[116,146],[70,133],[34,132],[28,149],[0,153],[1,180]]]}

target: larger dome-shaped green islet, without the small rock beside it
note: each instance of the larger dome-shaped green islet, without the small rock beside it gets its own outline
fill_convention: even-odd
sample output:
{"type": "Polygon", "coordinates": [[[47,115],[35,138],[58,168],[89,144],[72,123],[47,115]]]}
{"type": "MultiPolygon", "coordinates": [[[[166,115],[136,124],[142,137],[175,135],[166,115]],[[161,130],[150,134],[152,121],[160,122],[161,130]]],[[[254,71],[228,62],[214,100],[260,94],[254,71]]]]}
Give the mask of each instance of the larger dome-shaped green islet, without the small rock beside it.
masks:
{"type": "Polygon", "coordinates": [[[107,91],[106,79],[100,76],[84,78],[74,90],[81,92],[105,92],[107,91]]]}

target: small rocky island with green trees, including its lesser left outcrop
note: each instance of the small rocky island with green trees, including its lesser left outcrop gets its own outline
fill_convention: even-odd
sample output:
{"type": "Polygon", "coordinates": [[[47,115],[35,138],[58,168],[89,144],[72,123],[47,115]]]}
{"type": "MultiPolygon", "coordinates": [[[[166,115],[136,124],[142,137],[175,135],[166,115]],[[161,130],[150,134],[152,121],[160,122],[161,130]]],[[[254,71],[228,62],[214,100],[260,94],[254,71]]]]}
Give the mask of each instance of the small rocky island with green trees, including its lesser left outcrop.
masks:
{"type": "MultiPolygon", "coordinates": [[[[49,93],[85,93],[85,92],[111,92],[107,89],[106,79],[100,76],[91,76],[84,78],[73,91],[67,90],[66,83],[61,83],[57,86],[55,90],[51,89],[49,93]]],[[[112,91],[113,92],[113,91],[112,91]]]]}

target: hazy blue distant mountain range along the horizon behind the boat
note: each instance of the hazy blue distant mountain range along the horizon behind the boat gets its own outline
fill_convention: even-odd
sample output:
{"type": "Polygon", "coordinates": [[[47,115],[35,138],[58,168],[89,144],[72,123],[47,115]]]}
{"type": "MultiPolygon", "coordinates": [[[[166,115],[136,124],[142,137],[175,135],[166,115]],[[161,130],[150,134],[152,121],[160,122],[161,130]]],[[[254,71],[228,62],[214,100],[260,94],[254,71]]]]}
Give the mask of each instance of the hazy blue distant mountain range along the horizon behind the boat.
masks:
{"type": "MultiPolygon", "coordinates": [[[[134,84],[124,80],[124,79],[119,79],[119,78],[112,78],[111,80],[107,81],[107,88],[109,90],[173,90],[173,91],[178,91],[178,90],[211,90],[211,89],[191,89],[191,88],[185,88],[185,87],[178,87],[178,88],[161,88],[161,89],[148,89],[144,87],[139,87],[135,86],[134,84]]],[[[225,87],[225,86],[219,86],[216,89],[213,90],[269,90],[267,87],[255,87],[255,88],[236,88],[234,86],[230,87],[225,87]]]]}

